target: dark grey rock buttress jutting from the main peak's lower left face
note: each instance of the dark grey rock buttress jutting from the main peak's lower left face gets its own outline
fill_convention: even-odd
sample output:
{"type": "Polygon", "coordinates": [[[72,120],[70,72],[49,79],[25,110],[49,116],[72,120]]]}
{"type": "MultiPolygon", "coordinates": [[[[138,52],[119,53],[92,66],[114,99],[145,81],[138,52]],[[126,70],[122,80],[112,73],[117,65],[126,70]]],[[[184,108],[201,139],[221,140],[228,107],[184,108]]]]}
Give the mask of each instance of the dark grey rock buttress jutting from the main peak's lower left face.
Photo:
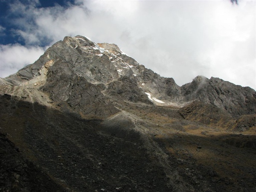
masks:
{"type": "Polygon", "coordinates": [[[91,116],[110,116],[117,113],[98,87],[80,77],[67,63],[57,62],[49,68],[47,82],[42,90],[55,102],[66,102],[77,112],[91,116]]]}

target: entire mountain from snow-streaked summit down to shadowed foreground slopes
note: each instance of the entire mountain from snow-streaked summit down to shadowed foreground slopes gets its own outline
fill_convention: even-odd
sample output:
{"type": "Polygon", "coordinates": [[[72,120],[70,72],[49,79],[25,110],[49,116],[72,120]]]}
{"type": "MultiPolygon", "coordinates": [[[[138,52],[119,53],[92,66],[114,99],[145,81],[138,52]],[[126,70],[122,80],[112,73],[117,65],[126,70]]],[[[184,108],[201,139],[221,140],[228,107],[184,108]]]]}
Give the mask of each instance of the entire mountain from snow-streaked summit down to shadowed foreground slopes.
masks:
{"type": "Polygon", "coordinates": [[[0,154],[4,192],[256,192],[256,92],[65,37],[0,78],[0,154]]]}

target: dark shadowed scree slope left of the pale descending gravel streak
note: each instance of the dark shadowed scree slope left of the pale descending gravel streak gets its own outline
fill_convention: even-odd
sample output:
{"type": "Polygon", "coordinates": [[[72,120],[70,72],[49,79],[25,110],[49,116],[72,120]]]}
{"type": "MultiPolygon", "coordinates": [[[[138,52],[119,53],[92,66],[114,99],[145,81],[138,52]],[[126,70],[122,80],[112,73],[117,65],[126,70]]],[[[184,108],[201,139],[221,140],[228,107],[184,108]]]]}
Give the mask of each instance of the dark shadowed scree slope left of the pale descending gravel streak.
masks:
{"type": "Polygon", "coordinates": [[[82,119],[76,113],[62,113],[8,95],[0,97],[0,104],[1,130],[8,132],[19,148],[18,153],[12,143],[11,149],[10,144],[1,145],[5,151],[1,189],[41,191],[45,186],[46,191],[172,191],[163,167],[147,153],[129,119],[108,131],[108,124],[102,125],[99,119],[82,119]],[[21,155],[46,174],[33,168],[33,163],[23,163],[21,155]],[[15,173],[20,175],[20,183],[15,182],[15,173]],[[33,180],[36,178],[40,180],[33,180]]]}

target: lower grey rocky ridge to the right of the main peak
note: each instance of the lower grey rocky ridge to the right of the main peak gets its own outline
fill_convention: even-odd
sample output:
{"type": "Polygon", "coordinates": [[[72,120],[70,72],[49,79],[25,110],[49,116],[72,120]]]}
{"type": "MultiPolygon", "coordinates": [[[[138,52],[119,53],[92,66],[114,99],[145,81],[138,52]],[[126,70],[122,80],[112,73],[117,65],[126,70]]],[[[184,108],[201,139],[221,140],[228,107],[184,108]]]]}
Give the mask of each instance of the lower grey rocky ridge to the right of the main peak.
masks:
{"type": "Polygon", "coordinates": [[[224,109],[235,117],[256,113],[256,92],[228,81],[198,76],[181,87],[186,101],[199,100],[224,109]]]}

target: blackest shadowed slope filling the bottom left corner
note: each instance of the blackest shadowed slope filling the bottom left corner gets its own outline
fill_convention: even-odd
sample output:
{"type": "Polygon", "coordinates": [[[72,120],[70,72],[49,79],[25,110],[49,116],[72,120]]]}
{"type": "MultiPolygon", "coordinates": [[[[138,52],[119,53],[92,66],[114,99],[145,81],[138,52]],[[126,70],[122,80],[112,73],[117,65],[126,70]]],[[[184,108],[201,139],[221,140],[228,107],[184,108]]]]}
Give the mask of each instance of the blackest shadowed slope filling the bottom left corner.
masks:
{"type": "Polygon", "coordinates": [[[3,192],[61,192],[49,175],[23,157],[22,151],[0,133],[0,191],[3,192]]]}

